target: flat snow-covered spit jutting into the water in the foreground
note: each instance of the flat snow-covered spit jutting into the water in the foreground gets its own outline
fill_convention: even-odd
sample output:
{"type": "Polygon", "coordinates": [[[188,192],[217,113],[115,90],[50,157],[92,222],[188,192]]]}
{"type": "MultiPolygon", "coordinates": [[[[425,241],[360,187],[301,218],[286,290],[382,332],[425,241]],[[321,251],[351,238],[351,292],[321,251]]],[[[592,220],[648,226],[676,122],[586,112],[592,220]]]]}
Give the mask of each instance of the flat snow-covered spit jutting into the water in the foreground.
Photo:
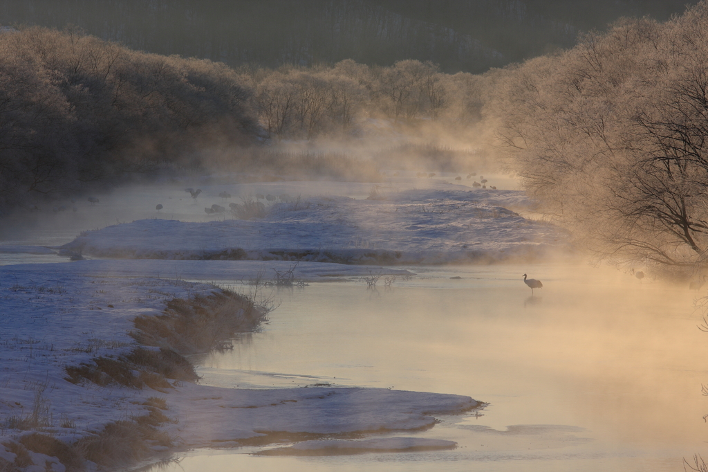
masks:
{"type": "Polygon", "coordinates": [[[173,429],[187,446],[415,431],[433,427],[437,421],[433,415],[455,415],[481,405],[463,395],[387,388],[247,390],[185,385],[177,390],[168,402],[180,421],[167,430],[173,429]]]}

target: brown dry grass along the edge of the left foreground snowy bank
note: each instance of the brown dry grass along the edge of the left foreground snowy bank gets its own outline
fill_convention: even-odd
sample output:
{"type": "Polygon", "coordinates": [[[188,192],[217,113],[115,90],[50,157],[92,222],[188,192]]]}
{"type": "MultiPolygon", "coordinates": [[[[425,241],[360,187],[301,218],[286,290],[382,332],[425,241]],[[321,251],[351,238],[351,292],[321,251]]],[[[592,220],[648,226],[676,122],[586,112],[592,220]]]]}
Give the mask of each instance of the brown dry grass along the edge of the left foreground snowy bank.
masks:
{"type": "MultiPolygon", "coordinates": [[[[249,297],[221,290],[209,296],[171,300],[161,315],[135,318],[135,330],[130,334],[143,346],[121,356],[95,357],[79,366],[67,366],[67,380],[99,386],[149,386],[161,391],[173,388],[176,381],[197,381],[194,366],[179,353],[217,349],[237,332],[256,329],[268,314],[267,309],[258,308],[256,299],[256,293],[249,297]]],[[[35,395],[36,418],[30,415],[23,421],[39,425],[45,418],[43,391],[38,389],[38,397],[35,395]]],[[[86,460],[106,468],[120,468],[154,456],[155,447],[171,448],[173,439],[158,428],[165,422],[175,422],[164,413],[166,400],[150,397],[143,405],[147,415],[105,425],[100,433],[79,439],[73,446],[44,434],[28,436],[27,444],[12,442],[7,447],[13,448],[18,459],[15,464],[0,461],[0,472],[16,472],[18,467],[31,465],[28,450],[59,457],[67,471],[82,471],[86,460]]]]}

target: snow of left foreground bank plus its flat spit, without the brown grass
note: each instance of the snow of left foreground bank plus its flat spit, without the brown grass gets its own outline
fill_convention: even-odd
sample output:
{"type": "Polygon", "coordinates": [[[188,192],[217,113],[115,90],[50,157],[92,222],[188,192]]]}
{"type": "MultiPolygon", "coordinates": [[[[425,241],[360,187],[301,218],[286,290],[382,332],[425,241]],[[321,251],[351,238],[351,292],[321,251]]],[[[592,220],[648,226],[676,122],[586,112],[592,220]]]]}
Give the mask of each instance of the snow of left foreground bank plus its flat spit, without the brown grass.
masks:
{"type": "MultiPolygon", "coordinates": [[[[154,411],[154,398],[163,398],[164,415],[176,420],[165,422],[161,429],[173,438],[173,444],[184,448],[409,431],[432,427],[433,415],[456,414],[480,405],[467,396],[375,388],[238,390],[175,382],[173,388],[139,390],[67,381],[65,366],[90,364],[99,356],[116,358],[135,349],[135,339],[128,332],[134,329],[136,316],[161,315],[172,298],[214,290],[206,283],[135,276],[150,274],[151,264],[165,264],[164,276],[171,275],[176,266],[182,266],[178,271],[183,274],[204,274],[208,264],[212,279],[232,277],[233,273],[224,273],[229,267],[245,264],[252,270],[257,265],[82,261],[0,267],[0,469],[14,470],[8,465],[14,463],[27,472],[40,470],[39,466],[61,472],[64,465],[40,451],[28,454],[29,459],[21,463],[13,441],[32,432],[51,434],[68,444],[95,438],[110,422],[154,411]]],[[[302,274],[316,277],[315,266],[324,264],[299,265],[302,274]]],[[[322,269],[320,275],[348,271],[351,275],[364,268],[322,269]]],[[[164,444],[149,446],[155,453],[166,449],[164,444]]]]}

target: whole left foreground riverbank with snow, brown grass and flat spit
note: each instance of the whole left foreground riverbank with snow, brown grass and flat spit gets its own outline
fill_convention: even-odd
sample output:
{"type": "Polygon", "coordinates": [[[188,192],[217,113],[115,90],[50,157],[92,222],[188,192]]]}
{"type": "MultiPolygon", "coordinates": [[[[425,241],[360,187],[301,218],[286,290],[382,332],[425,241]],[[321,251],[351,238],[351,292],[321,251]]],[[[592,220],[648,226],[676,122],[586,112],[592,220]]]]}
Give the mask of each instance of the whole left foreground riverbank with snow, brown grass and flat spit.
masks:
{"type": "MultiPolygon", "coordinates": [[[[251,292],[243,298],[209,283],[135,276],[148,274],[148,263],[0,269],[4,471],[125,467],[191,447],[424,429],[435,424],[433,415],[481,405],[459,395],[375,388],[200,386],[182,354],[229,349],[230,333],[265,320],[263,311],[249,315],[257,308],[249,300],[258,305],[268,296],[251,292]],[[215,313],[225,316],[210,316],[215,313]],[[224,329],[231,318],[240,321],[224,329]]],[[[221,271],[211,266],[215,279],[229,277],[223,264],[242,263],[222,262],[221,271]]],[[[302,270],[310,277],[346,273],[346,267],[318,265],[322,274],[314,267],[302,270]]],[[[362,271],[352,269],[352,275],[362,271]]],[[[386,272],[372,267],[368,273],[377,269],[386,272]]]]}

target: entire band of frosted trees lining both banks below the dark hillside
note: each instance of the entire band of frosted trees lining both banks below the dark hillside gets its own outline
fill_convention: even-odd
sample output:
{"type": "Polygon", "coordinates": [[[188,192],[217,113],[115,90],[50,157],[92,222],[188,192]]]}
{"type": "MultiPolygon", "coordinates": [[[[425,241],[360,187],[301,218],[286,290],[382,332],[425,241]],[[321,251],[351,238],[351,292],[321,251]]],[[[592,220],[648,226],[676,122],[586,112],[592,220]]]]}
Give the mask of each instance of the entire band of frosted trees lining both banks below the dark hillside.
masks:
{"type": "MultiPolygon", "coordinates": [[[[204,150],[224,165],[285,169],[277,161],[287,153],[240,149],[356,140],[384,123],[416,136],[486,130],[489,150],[600,257],[691,268],[708,249],[708,0],[484,74],[421,60],[233,69],[39,27],[0,33],[0,57],[5,210],[194,168],[204,150]]],[[[349,157],[297,159],[356,167],[349,157]]]]}

